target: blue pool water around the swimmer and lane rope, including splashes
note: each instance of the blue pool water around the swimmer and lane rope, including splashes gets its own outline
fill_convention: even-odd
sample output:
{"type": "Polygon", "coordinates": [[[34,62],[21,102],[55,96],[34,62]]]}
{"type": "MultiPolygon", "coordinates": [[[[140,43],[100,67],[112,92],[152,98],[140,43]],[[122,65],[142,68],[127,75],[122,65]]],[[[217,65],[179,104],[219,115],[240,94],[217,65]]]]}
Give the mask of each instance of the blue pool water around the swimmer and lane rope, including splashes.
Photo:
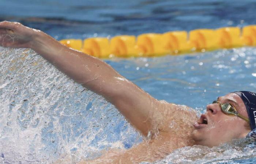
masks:
{"type": "MultiPolygon", "coordinates": [[[[112,1],[113,4],[89,1],[90,8],[82,1],[71,6],[64,1],[61,7],[65,10],[59,7],[50,13],[45,10],[52,4],[60,4],[59,1],[46,1],[42,6],[35,2],[28,5],[28,2],[31,1],[23,1],[23,6],[34,6],[37,12],[31,13],[44,19],[27,19],[30,13],[25,12],[26,8],[24,12],[13,12],[11,16],[15,17],[9,19],[22,20],[56,39],[255,23],[250,14],[255,7],[253,1],[245,1],[242,6],[233,1],[201,0],[193,4],[191,1],[112,1]],[[83,17],[83,11],[90,17],[83,17]],[[67,12],[72,14],[66,16],[67,12]],[[60,17],[63,19],[57,19],[60,17]]],[[[1,16],[6,18],[5,9],[12,5],[10,9],[15,11],[18,6],[13,1],[4,1],[3,5],[1,16]]],[[[219,95],[234,90],[256,90],[255,55],[256,48],[243,47],[105,61],[155,98],[203,112],[206,104],[219,95]]],[[[142,141],[140,134],[112,105],[69,80],[33,51],[0,48],[0,79],[0,161],[3,163],[50,163],[64,157],[75,162],[82,157],[97,157],[104,149],[129,148],[142,141]]],[[[158,163],[253,163],[255,149],[253,144],[250,146],[245,141],[234,141],[214,148],[185,147],[158,163]]]]}

